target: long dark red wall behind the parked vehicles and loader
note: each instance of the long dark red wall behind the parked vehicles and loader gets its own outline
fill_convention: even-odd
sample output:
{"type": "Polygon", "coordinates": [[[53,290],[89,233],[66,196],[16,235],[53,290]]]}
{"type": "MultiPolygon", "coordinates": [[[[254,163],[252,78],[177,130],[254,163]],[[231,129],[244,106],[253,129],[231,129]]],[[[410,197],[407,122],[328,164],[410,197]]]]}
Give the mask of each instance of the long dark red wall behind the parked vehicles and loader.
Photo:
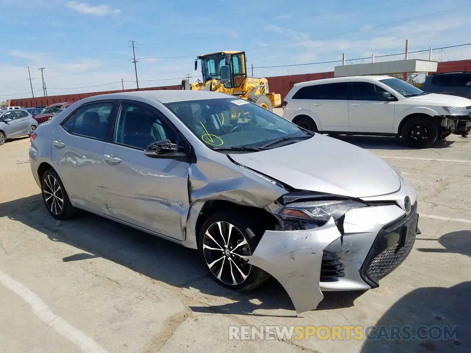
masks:
{"type": "MultiPolygon", "coordinates": [[[[454,72],[454,71],[471,71],[471,60],[457,60],[457,61],[445,61],[438,64],[437,72],[454,72]]],[[[287,75],[287,76],[273,76],[268,77],[268,86],[270,92],[280,93],[281,99],[288,94],[289,90],[295,83],[320,80],[333,78],[333,71],[330,72],[317,72],[317,73],[306,73],[300,75],[287,75]]],[[[106,93],[116,92],[133,92],[133,91],[152,91],[161,89],[180,89],[178,86],[162,86],[162,87],[149,87],[139,89],[124,89],[117,91],[103,91],[103,92],[90,92],[90,93],[76,93],[71,95],[63,96],[48,96],[38,98],[21,98],[21,99],[9,99],[7,100],[8,106],[19,105],[23,107],[36,107],[38,105],[49,105],[53,103],[62,102],[76,102],[86,97],[97,96],[106,93]]]]}

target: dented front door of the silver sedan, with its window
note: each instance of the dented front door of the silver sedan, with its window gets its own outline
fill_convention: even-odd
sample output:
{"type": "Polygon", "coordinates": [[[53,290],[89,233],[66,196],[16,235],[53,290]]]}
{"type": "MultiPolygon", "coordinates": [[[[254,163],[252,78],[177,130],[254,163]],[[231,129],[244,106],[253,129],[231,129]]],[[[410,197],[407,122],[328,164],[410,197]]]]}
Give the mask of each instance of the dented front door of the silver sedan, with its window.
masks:
{"type": "Polygon", "coordinates": [[[115,126],[103,152],[108,215],[184,240],[190,164],[151,158],[144,149],[167,138],[188,150],[189,144],[161,112],[136,101],[122,101],[115,126]]]}

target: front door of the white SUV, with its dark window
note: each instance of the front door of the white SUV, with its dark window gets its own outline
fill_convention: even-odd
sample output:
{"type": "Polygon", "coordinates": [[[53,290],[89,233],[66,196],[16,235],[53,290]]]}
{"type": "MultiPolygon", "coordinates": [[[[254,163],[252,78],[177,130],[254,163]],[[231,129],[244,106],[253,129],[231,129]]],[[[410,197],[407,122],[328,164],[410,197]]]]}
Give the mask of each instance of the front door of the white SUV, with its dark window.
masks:
{"type": "Polygon", "coordinates": [[[386,89],[365,81],[351,82],[352,96],[349,100],[349,131],[392,133],[394,101],[381,97],[386,89]]]}

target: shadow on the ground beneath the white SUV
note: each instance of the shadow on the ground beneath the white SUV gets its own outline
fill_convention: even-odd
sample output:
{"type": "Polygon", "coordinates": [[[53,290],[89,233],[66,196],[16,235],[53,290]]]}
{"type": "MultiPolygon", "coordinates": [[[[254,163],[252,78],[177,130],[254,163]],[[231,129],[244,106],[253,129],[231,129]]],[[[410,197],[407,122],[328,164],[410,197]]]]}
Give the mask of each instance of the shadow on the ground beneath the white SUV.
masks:
{"type": "MultiPolygon", "coordinates": [[[[332,136],[338,140],[355,144],[358,147],[374,150],[420,150],[421,148],[407,147],[398,137],[383,136],[361,136],[361,135],[335,135],[332,136]]],[[[455,141],[447,139],[437,140],[435,144],[428,149],[447,148],[454,144],[455,141]]]]}

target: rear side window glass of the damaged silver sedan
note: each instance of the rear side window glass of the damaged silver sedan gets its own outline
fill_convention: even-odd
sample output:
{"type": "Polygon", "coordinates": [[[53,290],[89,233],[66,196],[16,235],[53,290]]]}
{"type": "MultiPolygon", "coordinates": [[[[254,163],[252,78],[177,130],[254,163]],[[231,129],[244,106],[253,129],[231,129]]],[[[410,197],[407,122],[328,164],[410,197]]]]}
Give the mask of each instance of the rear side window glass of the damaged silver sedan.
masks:
{"type": "Polygon", "coordinates": [[[87,104],[79,108],[75,119],[67,119],[64,126],[72,128],[74,134],[104,140],[112,109],[113,102],[87,104]],[[74,120],[73,127],[68,125],[69,120],[74,120]]]}

